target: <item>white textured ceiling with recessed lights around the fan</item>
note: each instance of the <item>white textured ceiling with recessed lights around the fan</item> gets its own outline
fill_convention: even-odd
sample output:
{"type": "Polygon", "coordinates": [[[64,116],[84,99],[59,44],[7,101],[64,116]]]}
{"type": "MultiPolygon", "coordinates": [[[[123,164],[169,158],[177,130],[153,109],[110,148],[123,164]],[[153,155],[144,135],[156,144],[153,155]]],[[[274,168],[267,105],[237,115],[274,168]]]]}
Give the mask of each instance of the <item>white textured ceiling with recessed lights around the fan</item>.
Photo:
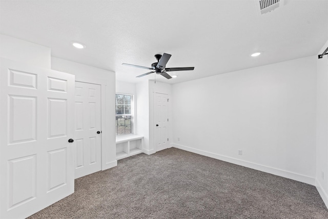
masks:
{"type": "MultiPolygon", "coordinates": [[[[167,67],[195,67],[170,84],[315,55],[328,38],[327,0],[285,0],[259,15],[254,0],[243,1],[3,1],[0,32],[51,48],[52,56],[135,76],[155,54],[172,54],[167,67]],[[83,50],[72,41],[86,45],[83,50]],[[250,54],[262,51],[254,58],[250,54]]],[[[322,51],[323,52],[323,51],[322,51]]],[[[173,72],[169,72],[173,74],[173,72]]],[[[92,74],[92,72],[90,72],[92,74]]]]}

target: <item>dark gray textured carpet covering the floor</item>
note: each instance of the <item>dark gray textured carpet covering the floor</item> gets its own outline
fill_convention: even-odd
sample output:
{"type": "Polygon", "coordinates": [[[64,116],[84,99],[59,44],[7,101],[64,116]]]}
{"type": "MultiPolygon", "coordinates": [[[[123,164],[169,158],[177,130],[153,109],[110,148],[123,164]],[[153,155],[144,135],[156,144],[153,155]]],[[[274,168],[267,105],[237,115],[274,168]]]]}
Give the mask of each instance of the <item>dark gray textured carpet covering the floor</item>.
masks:
{"type": "Polygon", "coordinates": [[[32,218],[328,218],[314,186],[176,148],[75,180],[32,218]]]}

